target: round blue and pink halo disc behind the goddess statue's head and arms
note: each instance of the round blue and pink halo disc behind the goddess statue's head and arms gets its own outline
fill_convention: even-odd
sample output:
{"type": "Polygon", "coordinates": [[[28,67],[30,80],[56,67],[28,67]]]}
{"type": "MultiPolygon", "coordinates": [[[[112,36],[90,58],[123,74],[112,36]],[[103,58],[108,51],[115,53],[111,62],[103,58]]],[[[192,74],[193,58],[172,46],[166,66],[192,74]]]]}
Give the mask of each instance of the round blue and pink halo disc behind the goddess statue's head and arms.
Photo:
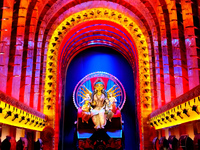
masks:
{"type": "Polygon", "coordinates": [[[111,88],[112,90],[115,91],[115,96],[116,96],[115,98],[117,100],[116,104],[117,104],[117,107],[121,110],[126,101],[126,93],[125,93],[123,85],[115,76],[109,73],[100,72],[100,71],[90,73],[78,82],[73,92],[73,102],[74,102],[75,107],[77,109],[79,107],[82,107],[83,103],[81,102],[83,101],[85,91],[88,90],[90,92],[93,92],[94,82],[96,81],[97,78],[101,78],[103,80],[104,89],[106,91],[109,91],[111,88]]]}

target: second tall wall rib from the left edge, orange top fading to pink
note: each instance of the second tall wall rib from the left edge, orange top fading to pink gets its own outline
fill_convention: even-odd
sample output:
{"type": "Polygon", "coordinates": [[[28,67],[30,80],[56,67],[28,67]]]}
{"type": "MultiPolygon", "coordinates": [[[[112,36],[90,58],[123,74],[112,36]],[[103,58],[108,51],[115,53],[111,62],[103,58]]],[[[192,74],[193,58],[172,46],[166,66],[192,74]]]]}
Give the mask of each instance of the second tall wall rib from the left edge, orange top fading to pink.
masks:
{"type": "MultiPolygon", "coordinates": [[[[12,63],[14,63],[14,65],[12,65],[13,67],[13,76],[15,76],[15,78],[12,79],[12,92],[11,95],[12,97],[19,99],[20,101],[23,102],[24,99],[20,99],[19,98],[19,93],[20,93],[20,86],[21,86],[21,69],[22,69],[22,58],[23,58],[23,46],[24,46],[24,33],[25,33],[25,24],[26,24],[26,14],[27,14],[27,6],[28,6],[29,2],[28,1],[20,1],[19,6],[17,4],[17,2],[14,4],[14,7],[18,7],[17,10],[13,10],[13,15],[15,18],[13,18],[13,22],[15,22],[15,24],[12,24],[12,30],[16,30],[16,41],[12,43],[11,40],[11,48],[12,51],[15,53],[11,52],[10,53],[10,60],[12,60],[9,63],[10,65],[12,65],[12,63]],[[16,6],[15,6],[16,5],[16,6]],[[15,47],[13,47],[13,45],[15,45],[15,47]],[[14,55],[14,58],[12,58],[14,55]],[[19,76],[19,77],[17,77],[19,76]]],[[[12,32],[11,37],[15,36],[15,32],[12,32]]],[[[14,39],[14,37],[13,37],[14,39]]],[[[9,69],[10,70],[10,69],[9,69]]],[[[11,71],[11,70],[10,70],[11,71]]],[[[11,73],[11,72],[10,72],[11,73]]],[[[9,91],[9,88],[7,88],[7,90],[9,91]]]]}

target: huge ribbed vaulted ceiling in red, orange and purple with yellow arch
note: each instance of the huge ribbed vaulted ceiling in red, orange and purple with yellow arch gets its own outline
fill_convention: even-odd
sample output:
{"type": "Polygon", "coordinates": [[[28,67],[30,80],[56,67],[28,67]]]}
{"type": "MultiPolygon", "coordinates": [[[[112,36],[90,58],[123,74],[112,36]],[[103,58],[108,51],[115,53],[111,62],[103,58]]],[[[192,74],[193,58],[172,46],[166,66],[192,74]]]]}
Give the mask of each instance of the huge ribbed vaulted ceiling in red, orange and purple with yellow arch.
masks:
{"type": "MultiPolygon", "coordinates": [[[[0,89],[43,111],[43,103],[48,108],[53,104],[50,97],[60,99],[60,89],[52,82],[64,77],[71,59],[87,47],[104,45],[128,60],[138,73],[137,92],[151,93],[153,101],[146,104],[155,110],[199,84],[191,4],[190,0],[1,1],[0,89]],[[56,77],[56,71],[62,73],[56,77]]],[[[144,104],[149,97],[139,99],[144,104]]],[[[58,122],[59,113],[55,116],[58,122]]]]}

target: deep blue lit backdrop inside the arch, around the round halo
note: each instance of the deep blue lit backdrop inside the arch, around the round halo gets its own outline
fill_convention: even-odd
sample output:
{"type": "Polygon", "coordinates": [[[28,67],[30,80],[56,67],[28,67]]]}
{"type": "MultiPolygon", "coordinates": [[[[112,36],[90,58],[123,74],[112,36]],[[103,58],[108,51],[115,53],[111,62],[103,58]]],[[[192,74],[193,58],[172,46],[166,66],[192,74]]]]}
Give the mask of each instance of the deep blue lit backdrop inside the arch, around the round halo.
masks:
{"type": "Polygon", "coordinates": [[[109,47],[91,47],[77,54],[67,68],[65,86],[65,106],[60,131],[60,143],[63,149],[74,149],[74,132],[77,110],[73,104],[72,93],[76,84],[84,76],[95,71],[106,71],[116,76],[123,84],[127,100],[122,109],[126,149],[139,149],[139,131],[137,127],[137,109],[135,100],[134,74],[127,60],[109,47]],[[62,139],[62,141],[61,141],[62,139]]]}

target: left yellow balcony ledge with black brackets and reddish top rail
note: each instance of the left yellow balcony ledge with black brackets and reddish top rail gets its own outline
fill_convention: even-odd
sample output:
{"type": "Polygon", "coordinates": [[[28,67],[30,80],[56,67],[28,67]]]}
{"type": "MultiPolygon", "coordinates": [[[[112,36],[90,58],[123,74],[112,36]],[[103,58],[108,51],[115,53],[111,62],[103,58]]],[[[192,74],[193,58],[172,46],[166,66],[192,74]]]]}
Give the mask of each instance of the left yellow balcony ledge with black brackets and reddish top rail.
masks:
{"type": "Polygon", "coordinates": [[[0,123],[42,131],[45,115],[0,92],[0,123]]]}

